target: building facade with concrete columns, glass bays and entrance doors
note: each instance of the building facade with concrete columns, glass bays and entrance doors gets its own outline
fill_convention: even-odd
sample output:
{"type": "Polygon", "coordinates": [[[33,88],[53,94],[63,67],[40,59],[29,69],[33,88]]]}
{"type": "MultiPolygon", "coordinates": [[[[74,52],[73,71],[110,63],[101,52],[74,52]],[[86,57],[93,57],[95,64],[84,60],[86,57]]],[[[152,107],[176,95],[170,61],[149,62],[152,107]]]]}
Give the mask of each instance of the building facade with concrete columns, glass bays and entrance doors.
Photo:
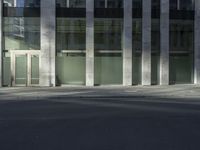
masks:
{"type": "Polygon", "coordinates": [[[2,0],[0,85],[200,83],[198,0],[2,0]]]}

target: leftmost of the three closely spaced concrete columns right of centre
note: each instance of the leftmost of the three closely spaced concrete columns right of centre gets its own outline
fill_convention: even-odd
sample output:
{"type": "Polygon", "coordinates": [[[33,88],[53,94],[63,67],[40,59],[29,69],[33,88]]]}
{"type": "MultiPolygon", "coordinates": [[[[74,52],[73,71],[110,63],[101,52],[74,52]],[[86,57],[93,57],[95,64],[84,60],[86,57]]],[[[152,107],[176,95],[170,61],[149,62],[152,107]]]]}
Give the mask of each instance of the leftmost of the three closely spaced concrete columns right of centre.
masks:
{"type": "Polygon", "coordinates": [[[123,85],[132,85],[132,0],[124,1],[123,85]]]}

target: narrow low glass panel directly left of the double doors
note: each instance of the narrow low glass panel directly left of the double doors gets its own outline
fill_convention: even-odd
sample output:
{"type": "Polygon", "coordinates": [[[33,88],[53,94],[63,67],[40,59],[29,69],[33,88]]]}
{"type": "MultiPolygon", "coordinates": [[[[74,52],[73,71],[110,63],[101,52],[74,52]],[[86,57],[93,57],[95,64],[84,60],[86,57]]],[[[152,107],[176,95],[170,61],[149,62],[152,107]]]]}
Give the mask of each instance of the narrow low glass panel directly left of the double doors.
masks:
{"type": "Polygon", "coordinates": [[[11,61],[10,54],[4,53],[3,57],[3,86],[11,85],[11,61]]]}

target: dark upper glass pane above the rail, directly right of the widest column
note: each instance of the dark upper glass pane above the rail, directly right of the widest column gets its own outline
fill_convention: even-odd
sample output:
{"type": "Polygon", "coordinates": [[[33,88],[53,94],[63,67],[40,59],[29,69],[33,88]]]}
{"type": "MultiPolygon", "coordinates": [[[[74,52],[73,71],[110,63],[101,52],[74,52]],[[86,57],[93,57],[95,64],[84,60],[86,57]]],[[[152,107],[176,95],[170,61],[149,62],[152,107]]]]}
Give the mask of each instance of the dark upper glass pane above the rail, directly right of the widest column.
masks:
{"type": "Polygon", "coordinates": [[[57,50],[85,50],[85,32],[85,19],[57,18],[57,50]]]}

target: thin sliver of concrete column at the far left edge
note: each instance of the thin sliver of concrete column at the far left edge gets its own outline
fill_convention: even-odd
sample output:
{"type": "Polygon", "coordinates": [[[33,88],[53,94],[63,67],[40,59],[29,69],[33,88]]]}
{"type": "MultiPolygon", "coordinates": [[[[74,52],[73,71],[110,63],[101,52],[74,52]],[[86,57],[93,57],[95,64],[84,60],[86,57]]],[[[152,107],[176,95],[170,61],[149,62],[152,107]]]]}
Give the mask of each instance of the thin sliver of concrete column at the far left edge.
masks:
{"type": "Polygon", "coordinates": [[[3,82],[3,1],[0,1],[0,87],[3,82]]]}

